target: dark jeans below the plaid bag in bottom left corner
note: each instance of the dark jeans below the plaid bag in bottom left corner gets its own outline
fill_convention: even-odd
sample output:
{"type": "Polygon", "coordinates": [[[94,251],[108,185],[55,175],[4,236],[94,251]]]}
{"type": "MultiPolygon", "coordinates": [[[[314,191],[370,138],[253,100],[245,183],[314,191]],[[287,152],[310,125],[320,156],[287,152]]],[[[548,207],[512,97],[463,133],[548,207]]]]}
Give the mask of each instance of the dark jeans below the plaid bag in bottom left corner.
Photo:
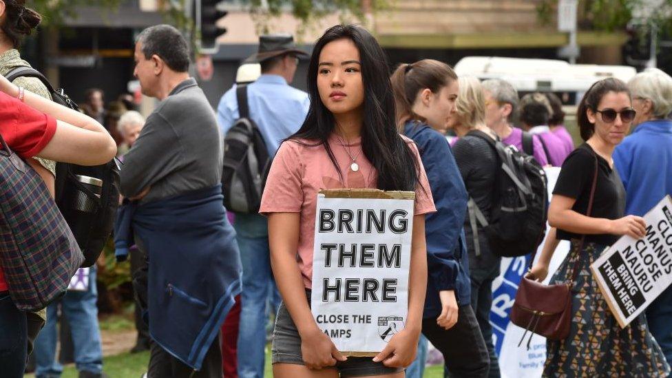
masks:
{"type": "Polygon", "coordinates": [[[14,306],[8,291],[0,293],[0,375],[23,377],[28,335],[25,313],[14,306]]]}

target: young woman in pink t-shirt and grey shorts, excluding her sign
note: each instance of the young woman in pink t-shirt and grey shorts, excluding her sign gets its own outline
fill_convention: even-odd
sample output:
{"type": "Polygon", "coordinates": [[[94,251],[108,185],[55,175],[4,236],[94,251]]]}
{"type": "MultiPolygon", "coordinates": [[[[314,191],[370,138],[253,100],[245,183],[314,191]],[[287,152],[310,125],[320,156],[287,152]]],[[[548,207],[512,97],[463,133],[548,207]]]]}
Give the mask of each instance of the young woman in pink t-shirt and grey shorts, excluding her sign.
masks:
{"type": "Polygon", "coordinates": [[[283,304],[273,337],[275,377],[403,377],[421,330],[427,284],[425,216],[434,211],[417,148],[395,126],[386,56],[373,36],[336,25],[308,65],[311,107],[278,149],[260,213],[269,217],[271,264],[283,304]],[[319,189],[416,191],[406,327],[375,357],[344,357],[317,327],[309,300],[319,189]]]}

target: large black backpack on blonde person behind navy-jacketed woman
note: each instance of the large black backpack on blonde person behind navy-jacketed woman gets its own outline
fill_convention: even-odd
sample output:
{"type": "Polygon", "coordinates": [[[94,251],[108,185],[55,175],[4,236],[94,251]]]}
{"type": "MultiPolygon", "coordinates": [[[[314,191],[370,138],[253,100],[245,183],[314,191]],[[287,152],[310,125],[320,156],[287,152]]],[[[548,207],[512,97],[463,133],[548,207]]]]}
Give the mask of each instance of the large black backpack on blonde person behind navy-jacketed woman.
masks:
{"type": "Polygon", "coordinates": [[[496,152],[500,167],[495,180],[494,202],[486,219],[476,202],[468,202],[474,233],[474,249],[480,255],[476,223],[485,230],[490,250],[501,257],[516,257],[536,251],[546,233],[548,210],[547,178],[534,159],[515,147],[505,146],[483,132],[472,132],[496,152]]]}

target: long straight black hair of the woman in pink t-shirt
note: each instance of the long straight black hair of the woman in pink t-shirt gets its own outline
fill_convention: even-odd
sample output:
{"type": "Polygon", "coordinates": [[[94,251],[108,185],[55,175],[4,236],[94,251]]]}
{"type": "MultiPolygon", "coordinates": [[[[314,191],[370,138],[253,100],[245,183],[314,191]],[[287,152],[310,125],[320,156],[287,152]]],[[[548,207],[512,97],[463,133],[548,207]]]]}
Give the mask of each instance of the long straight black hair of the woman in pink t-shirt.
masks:
{"type": "Polygon", "coordinates": [[[395,98],[390,84],[388,60],[376,39],[364,28],[356,25],[335,25],[317,40],[308,65],[308,96],[311,98],[311,107],[299,131],[288,139],[314,140],[317,145],[324,145],[336,171],[343,179],[328,143],[335,120],[319,98],[317,65],[322,48],[327,43],[344,38],[353,41],[359,50],[364,84],[361,150],[377,171],[378,189],[414,191],[418,182],[419,164],[395,126],[395,98]]]}

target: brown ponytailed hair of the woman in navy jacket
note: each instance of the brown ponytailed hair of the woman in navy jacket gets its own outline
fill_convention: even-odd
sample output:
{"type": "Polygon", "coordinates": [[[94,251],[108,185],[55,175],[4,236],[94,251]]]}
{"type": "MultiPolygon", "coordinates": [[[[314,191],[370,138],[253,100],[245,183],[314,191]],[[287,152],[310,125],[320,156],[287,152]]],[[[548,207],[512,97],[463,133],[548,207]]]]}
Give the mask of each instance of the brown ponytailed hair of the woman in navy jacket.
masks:
{"type": "Polygon", "coordinates": [[[399,128],[407,120],[425,119],[413,112],[413,103],[418,92],[427,88],[437,94],[441,88],[457,80],[457,74],[447,65],[434,59],[423,59],[412,64],[401,63],[392,74],[392,88],[395,90],[397,123],[399,128]]]}

